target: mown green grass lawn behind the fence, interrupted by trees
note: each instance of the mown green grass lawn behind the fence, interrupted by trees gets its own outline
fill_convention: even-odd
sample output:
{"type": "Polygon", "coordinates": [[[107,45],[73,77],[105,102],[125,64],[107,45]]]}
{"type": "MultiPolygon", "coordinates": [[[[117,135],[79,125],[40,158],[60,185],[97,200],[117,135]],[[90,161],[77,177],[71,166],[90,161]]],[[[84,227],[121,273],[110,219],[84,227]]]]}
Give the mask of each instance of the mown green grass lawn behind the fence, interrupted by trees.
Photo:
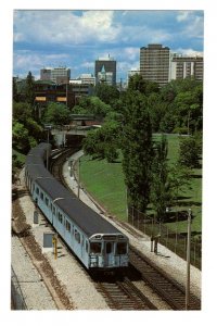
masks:
{"type": "MultiPolygon", "coordinates": [[[[154,135],[154,139],[159,136],[154,135]]],[[[175,163],[178,158],[179,136],[168,135],[168,159],[175,163]]],[[[191,190],[186,189],[180,193],[181,199],[178,202],[178,211],[187,211],[191,208],[193,213],[192,231],[201,233],[202,221],[202,171],[193,170],[191,178],[191,190]]],[[[127,221],[126,214],[126,187],[122,163],[107,163],[103,161],[93,161],[89,156],[82,156],[80,160],[80,178],[85,188],[102,204],[112,215],[122,221],[127,221]]],[[[169,228],[176,228],[175,222],[167,223],[169,228]]],[[[187,221],[178,223],[180,233],[187,231],[187,221]]]]}

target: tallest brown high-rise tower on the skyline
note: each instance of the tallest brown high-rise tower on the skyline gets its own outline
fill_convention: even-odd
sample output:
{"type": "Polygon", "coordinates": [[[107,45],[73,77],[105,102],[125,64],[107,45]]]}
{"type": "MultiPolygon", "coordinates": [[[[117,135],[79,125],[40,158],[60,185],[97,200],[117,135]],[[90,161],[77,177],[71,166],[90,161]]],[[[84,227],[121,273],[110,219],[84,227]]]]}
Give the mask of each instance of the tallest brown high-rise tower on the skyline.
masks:
{"type": "Polygon", "coordinates": [[[159,87],[169,82],[169,48],[148,45],[140,48],[140,74],[145,80],[155,82],[159,87]]]}

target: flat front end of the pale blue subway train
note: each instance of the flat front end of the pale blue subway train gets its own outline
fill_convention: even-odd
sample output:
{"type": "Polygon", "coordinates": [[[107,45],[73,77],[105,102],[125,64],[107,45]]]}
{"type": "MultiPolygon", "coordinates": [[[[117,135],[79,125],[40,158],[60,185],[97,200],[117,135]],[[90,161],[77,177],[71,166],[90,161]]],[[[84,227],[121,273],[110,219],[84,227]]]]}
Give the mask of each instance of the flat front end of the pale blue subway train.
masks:
{"type": "Polygon", "coordinates": [[[116,269],[128,266],[129,240],[123,234],[98,234],[89,241],[89,268],[116,269]]]}

